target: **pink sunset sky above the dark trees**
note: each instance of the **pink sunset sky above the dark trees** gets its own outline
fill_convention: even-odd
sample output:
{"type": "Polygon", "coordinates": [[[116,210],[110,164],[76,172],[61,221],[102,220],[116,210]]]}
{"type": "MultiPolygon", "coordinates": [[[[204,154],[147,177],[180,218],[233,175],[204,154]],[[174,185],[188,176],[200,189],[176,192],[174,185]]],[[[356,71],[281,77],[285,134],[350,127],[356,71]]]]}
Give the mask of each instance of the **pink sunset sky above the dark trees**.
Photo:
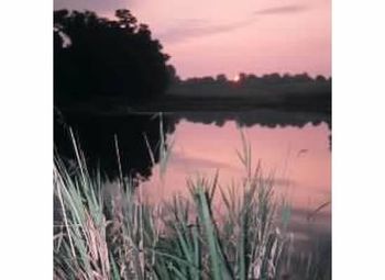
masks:
{"type": "Polygon", "coordinates": [[[54,8],[131,10],[183,78],[331,75],[330,0],[55,0],[54,8]]]}

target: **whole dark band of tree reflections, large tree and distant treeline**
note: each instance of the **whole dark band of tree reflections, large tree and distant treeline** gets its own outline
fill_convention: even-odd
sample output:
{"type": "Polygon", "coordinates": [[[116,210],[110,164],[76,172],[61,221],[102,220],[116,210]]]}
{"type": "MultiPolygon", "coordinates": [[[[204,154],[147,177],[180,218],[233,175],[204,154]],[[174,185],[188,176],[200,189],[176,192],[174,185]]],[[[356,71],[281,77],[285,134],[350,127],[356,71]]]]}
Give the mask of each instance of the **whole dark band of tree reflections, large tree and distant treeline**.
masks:
{"type": "MultiPolygon", "coordinates": [[[[215,124],[223,126],[227,121],[235,121],[240,126],[260,124],[267,127],[296,126],[304,127],[307,123],[314,125],[324,122],[331,127],[330,115],[306,114],[298,112],[253,111],[253,112],[178,112],[163,117],[163,133],[173,133],[180,120],[194,123],[215,124]]],[[[68,114],[66,117],[55,117],[54,142],[62,157],[75,159],[73,144],[67,127],[72,126],[80,147],[85,153],[90,170],[100,168],[110,179],[117,178],[119,168],[114,146],[114,135],[118,137],[120,159],[124,175],[140,175],[148,178],[153,167],[147,137],[155,163],[160,160],[158,143],[161,139],[160,117],[153,114],[127,115],[92,115],[68,114]]]]}

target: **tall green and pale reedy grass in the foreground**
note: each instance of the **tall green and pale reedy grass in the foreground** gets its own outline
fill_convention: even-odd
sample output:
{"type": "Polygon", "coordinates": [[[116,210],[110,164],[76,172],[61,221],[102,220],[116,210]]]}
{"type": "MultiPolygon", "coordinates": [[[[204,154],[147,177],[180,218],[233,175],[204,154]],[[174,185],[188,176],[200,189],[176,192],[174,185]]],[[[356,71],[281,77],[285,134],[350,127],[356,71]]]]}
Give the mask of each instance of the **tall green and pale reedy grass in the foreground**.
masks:
{"type": "Polygon", "coordinates": [[[274,180],[260,165],[252,169],[242,139],[240,186],[220,187],[218,173],[190,178],[189,198],[155,205],[123,176],[107,192],[108,181],[90,176],[74,141],[77,170],[54,160],[55,279],[285,279],[288,239],[277,226],[274,180]]]}

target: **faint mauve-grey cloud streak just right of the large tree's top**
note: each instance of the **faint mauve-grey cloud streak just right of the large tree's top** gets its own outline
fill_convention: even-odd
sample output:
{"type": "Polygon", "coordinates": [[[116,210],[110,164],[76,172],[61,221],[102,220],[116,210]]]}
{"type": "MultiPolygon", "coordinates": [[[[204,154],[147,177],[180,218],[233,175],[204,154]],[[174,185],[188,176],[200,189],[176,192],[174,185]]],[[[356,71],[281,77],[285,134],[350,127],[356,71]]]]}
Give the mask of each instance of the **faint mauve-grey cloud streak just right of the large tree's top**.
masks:
{"type": "Polygon", "coordinates": [[[175,26],[167,29],[158,36],[162,41],[167,43],[179,43],[190,38],[231,32],[241,29],[254,21],[255,18],[250,18],[243,21],[232,22],[228,24],[209,24],[205,20],[187,19],[180,21],[175,26]]]}

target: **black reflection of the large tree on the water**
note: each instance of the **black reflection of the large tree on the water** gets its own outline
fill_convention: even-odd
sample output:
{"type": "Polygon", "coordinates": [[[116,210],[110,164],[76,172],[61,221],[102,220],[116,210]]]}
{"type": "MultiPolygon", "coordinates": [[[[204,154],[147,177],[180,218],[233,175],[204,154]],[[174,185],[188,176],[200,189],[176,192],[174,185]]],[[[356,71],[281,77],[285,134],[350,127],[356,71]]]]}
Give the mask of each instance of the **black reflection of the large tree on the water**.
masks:
{"type": "MultiPolygon", "coordinates": [[[[119,176],[114,135],[118,137],[123,175],[151,176],[152,160],[144,135],[158,161],[157,144],[161,138],[160,119],[153,115],[90,115],[69,114],[65,123],[72,126],[85,153],[91,172],[97,168],[110,179],[119,176]]],[[[74,159],[68,128],[55,117],[54,142],[58,154],[74,159]]]]}

